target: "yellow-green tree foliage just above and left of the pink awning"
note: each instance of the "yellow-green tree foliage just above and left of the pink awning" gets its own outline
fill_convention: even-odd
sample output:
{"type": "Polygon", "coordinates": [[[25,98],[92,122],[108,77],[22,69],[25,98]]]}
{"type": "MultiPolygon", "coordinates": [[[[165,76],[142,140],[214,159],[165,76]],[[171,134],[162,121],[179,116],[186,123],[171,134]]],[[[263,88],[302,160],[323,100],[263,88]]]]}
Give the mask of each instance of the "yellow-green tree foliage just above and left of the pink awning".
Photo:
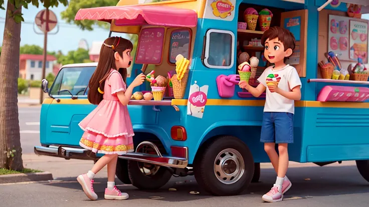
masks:
{"type": "Polygon", "coordinates": [[[61,12],[62,19],[66,20],[68,23],[74,23],[81,29],[93,30],[93,25],[98,25],[102,28],[110,28],[110,24],[103,21],[93,21],[93,20],[74,20],[77,11],[80,8],[91,8],[99,6],[114,6],[119,0],[70,0],[69,5],[66,10],[61,12]]]}

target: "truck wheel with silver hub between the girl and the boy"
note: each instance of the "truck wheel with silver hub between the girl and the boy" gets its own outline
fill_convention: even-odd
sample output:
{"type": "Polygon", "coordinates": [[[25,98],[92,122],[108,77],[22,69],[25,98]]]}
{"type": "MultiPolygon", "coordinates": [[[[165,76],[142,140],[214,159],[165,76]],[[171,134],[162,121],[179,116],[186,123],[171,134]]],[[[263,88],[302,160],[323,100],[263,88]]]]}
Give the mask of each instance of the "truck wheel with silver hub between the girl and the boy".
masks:
{"type": "Polygon", "coordinates": [[[194,166],[196,181],[214,195],[239,194],[248,187],[254,174],[249,147],[228,135],[206,143],[194,166]]]}

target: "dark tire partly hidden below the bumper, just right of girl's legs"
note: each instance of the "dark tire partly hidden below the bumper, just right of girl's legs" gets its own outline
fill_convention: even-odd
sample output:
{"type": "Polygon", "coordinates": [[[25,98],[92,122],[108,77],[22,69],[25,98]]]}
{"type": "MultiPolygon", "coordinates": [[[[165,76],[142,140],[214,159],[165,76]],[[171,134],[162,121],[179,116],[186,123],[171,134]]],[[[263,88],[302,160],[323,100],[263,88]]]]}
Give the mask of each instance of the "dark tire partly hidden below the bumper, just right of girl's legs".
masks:
{"type": "Polygon", "coordinates": [[[166,167],[133,160],[128,160],[128,174],[132,185],[142,190],[158,189],[172,175],[166,167]]]}

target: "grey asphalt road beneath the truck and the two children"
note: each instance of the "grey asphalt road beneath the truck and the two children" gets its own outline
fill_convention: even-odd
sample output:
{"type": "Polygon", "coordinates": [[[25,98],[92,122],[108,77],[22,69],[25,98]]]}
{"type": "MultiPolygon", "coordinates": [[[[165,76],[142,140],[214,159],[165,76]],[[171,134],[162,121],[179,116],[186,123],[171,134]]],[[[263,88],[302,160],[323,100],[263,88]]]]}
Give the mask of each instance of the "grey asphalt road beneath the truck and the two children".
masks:
{"type": "MultiPolygon", "coordinates": [[[[51,171],[54,180],[46,182],[0,184],[0,206],[368,206],[369,182],[358,173],[354,162],[331,164],[323,167],[311,163],[292,163],[288,177],[293,186],[285,200],[264,203],[262,194],[275,181],[270,164],[262,164],[259,183],[252,183],[241,195],[217,197],[203,191],[193,176],[172,178],[157,191],[141,191],[132,185],[117,181],[118,188],[128,192],[124,201],[104,200],[106,169],[95,179],[99,200],[87,200],[75,178],[92,166],[88,160],[65,160],[58,157],[37,156],[33,146],[39,142],[39,107],[20,110],[21,142],[24,164],[30,168],[51,171]],[[176,191],[169,191],[173,187],[176,191]],[[190,194],[190,191],[200,194],[190,194]]],[[[118,179],[117,179],[118,180],[118,179]]]]}

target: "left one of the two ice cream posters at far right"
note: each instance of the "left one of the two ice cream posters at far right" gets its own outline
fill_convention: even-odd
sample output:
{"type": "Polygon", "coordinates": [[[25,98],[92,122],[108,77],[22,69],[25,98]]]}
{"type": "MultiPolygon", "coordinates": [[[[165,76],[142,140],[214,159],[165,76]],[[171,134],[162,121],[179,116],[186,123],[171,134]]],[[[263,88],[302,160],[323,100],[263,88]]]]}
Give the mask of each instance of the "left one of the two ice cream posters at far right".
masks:
{"type": "Polygon", "coordinates": [[[329,15],[328,51],[336,53],[339,60],[350,60],[348,21],[349,18],[346,16],[329,15]]]}

